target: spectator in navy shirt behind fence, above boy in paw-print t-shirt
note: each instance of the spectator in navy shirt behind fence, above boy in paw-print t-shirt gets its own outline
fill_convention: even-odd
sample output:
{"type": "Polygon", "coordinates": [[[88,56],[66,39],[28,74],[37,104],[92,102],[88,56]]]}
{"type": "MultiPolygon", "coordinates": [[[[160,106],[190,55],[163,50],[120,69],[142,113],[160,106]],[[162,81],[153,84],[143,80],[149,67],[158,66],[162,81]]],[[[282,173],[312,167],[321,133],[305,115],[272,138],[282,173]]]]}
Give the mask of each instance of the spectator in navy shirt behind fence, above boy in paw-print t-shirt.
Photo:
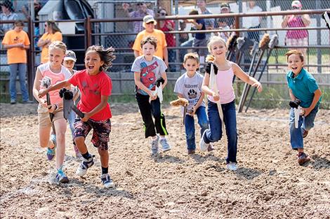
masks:
{"type": "MultiPolygon", "coordinates": [[[[190,11],[189,15],[198,15],[198,10],[190,11]]],[[[187,19],[185,22],[191,23],[196,30],[205,30],[204,19],[187,19]]],[[[206,46],[207,38],[205,33],[196,33],[194,34],[194,39],[192,41],[192,47],[202,47],[206,46]]],[[[199,55],[199,63],[203,64],[205,61],[205,55],[207,54],[207,49],[196,49],[195,52],[199,55]]],[[[203,66],[201,66],[202,68],[203,66]]]]}

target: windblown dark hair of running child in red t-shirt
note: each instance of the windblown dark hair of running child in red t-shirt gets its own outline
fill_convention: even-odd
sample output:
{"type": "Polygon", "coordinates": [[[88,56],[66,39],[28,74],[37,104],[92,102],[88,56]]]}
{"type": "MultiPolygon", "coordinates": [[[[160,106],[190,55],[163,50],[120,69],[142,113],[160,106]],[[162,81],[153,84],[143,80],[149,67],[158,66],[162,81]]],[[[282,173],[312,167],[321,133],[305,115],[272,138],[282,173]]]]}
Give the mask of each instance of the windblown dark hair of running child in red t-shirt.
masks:
{"type": "Polygon", "coordinates": [[[88,51],[98,52],[101,61],[104,62],[102,66],[100,66],[100,71],[107,71],[112,66],[112,61],[116,58],[114,55],[114,48],[104,48],[103,45],[91,45],[87,48],[86,53],[88,51]]]}

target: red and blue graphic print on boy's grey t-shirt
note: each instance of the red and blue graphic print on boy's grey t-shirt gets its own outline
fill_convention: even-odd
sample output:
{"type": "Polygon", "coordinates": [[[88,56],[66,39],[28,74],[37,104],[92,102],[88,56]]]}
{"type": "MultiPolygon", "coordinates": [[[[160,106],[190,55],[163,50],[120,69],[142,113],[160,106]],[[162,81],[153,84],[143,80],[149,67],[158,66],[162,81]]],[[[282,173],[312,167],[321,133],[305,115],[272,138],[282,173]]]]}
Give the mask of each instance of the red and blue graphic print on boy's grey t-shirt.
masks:
{"type": "Polygon", "coordinates": [[[157,80],[154,73],[154,69],[157,69],[158,67],[157,61],[152,62],[152,64],[150,64],[149,66],[145,62],[141,62],[140,67],[141,67],[140,78],[143,85],[145,85],[145,87],[147,87],[150,90],[154,90],[155,89],[154,85],[157,80]]]}

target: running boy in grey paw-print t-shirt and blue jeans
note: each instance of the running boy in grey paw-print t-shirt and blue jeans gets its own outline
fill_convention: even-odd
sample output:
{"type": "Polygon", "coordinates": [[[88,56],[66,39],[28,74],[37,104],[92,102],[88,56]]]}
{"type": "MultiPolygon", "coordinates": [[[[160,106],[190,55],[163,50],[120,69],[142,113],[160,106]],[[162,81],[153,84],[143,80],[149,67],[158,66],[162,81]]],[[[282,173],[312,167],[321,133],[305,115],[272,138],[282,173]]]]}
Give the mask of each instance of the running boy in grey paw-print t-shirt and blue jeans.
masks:
{"type": "MultiPolygon", "coordinates": [[[[209,122],[205,111],[204,93],[202,92],[203,76],[197,73],[199,69],[199,56],[196,53],[187,53],[183,59],[183,67],[186,72],[176,80],[174,92],[178,97],[188,100],[187,114],[185,116],[185,138],[187,140],[188,154],[194,154],[196,142],[194,136],[194,115],[197,115],[198,124],[201,127],[201,136],[209,128],[209,122]]],[[[211,145],[209,145],[211,150],[211,145]]]]}

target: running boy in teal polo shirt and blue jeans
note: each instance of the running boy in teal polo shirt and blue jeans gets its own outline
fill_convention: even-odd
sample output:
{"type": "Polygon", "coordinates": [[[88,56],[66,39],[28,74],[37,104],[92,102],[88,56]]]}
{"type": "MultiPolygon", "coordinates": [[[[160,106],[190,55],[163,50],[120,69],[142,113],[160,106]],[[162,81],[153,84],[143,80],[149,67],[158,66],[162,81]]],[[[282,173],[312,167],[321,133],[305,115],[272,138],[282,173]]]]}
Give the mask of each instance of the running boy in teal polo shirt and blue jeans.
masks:
{"type": "Polygon", "coordinates": [[[293,150],[298,150],[298,164],[303,165],[310,161],[310,157],[304,153],[303,138],[308,135],[308,131],[314,127],[314,120],[319,111],[319,102],[322,92],[313,76],[303,68],[304,56],[301,51],[290,50],[286,52],[289,72],[286,80],[289,86],[290,99],[301,101],[300,106],[303,113],[299,116],[298,128],[295,127],[294,111],[290,111],[290,143],[293,150]]]}

